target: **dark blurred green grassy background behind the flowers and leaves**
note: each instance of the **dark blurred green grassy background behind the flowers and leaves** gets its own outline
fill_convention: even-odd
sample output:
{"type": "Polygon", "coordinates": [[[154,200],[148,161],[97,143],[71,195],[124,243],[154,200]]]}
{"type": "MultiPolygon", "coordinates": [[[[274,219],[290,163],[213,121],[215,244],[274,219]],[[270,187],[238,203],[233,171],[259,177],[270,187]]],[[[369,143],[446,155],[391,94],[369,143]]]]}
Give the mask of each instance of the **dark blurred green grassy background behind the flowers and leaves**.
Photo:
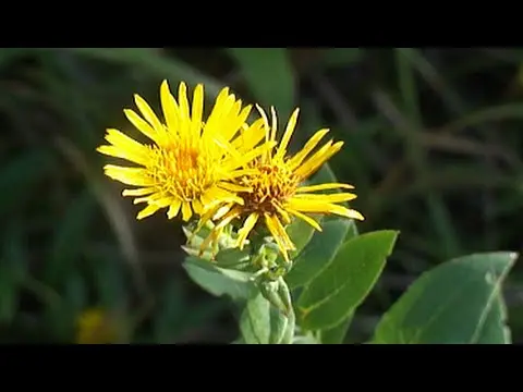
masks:
{"type": "MultiPolygon", "coordinates": [[[[138,93],[159,85],[223,86],[277,107],[299,106],[294,148],[330,127],[331,160],[356,186],[361,232],[401,235],[346,342],[369,336],[408,285],[451,257],[520,250],[523,207],[521,49],[0,49],[0,342],[230,342],[227,298],[181,267],[181,226],[102,175],[107,127],[131,130],[138,93]],[[78,336],[78,322],[87,336],[78,336]],[[85,331],[84,331],[85,332],[85,331]]],[[[504,295],[523,341],[523,274],[504,295]]]]}

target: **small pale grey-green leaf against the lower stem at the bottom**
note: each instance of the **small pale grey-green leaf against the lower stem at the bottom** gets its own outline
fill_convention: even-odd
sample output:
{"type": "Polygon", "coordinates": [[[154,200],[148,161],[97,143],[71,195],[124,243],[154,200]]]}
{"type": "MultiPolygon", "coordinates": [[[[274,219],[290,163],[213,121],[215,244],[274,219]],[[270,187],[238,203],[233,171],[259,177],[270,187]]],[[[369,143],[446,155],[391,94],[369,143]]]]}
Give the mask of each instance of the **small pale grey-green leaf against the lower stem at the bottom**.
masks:
{"type": "Polygon", "coordinates": [[[240,317],[240,330],[246,344],[280,344],[289,330],[289,318],[260,293],[254,293],[240,317]]]}

